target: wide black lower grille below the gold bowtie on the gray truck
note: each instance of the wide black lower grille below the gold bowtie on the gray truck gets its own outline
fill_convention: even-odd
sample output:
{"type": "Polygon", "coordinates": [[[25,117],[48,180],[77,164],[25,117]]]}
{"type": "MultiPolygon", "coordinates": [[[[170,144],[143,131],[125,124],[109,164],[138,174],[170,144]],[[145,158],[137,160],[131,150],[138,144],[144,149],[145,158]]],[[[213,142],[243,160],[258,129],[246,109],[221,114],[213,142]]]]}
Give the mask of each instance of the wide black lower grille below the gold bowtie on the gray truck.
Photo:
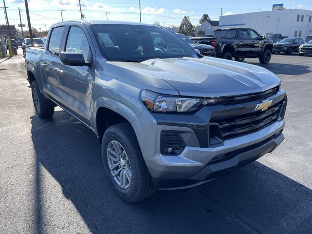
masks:
{"type": "Polygon", "coordinates": [[[217,117],[210,120],[219,125],[224,140],[255,132],[277,120],[282,101],[269,107],[266,111],[253,111],[248,114],[217,117]]]}

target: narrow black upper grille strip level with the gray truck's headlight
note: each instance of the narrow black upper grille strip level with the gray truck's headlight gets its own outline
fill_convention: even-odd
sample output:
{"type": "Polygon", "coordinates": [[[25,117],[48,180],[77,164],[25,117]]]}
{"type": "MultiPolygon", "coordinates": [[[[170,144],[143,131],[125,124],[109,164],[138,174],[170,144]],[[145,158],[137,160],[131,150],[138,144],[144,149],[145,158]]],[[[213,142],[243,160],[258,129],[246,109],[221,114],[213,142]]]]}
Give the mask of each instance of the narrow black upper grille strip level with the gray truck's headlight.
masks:
{"type": "Polygon", "coordinates": [[[222,104],[237,104],[246,101],[254,101],[254,100],[262,100],[269,98],[275,94],[277,94],[279,90],[279,86],[274,87],[273,89],[269,89],[264,92],[247,94],[247,95],[240,95],[240,96],[229,96],[222,100],[222,104]]]}

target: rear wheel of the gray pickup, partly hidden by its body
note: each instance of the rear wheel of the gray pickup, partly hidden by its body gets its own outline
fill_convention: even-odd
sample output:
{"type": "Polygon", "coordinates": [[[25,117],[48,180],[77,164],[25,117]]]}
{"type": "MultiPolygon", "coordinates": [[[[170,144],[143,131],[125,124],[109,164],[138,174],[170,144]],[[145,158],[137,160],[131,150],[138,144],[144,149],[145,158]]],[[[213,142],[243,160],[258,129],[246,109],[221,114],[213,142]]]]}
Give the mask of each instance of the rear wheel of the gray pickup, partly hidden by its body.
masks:
{"type": "Polygon", "coordinates": [[[36,80],[31,83],[31,93],[37,115],[41,118],[53,116],[54,103],[43,97],[36,80]]]}

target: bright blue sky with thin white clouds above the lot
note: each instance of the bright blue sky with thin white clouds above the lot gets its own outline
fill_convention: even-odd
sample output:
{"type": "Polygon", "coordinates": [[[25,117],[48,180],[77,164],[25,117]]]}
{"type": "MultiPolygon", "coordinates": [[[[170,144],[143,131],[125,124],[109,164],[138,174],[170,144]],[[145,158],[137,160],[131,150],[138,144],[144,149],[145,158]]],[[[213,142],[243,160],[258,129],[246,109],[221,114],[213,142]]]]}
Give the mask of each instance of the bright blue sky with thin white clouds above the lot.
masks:
{"type": "MultiPolygon", "coordinates": [[[[80,0],[82,13],[89,20],[123,20],[139,22],[139,0],[80,0]]],[[[204,13],[212,20],[219,16],[233,15],[256,11],[270,11],[272,5],[283,3],[286,9],[312,10],[312,0],[141,0],[141,18],[144,23],[159,22],[163,26],[178,26],[184,16],[190,16],[194,25],[204,13]]],[[[20,24],[21,20],[27,26],[24,0],[5,0],[10,25],[20,24]]],[[[0,6],[3,6],[0,0],[0,6]]],[[[64,20],[79,20],[78,0],[29,0],[28,1],[32,27],[45,30],[61,21],[59,9],[63,9],[64,20]]],[[[0,24],[5,24],[3,8],[0,8],[0,24]]]]}

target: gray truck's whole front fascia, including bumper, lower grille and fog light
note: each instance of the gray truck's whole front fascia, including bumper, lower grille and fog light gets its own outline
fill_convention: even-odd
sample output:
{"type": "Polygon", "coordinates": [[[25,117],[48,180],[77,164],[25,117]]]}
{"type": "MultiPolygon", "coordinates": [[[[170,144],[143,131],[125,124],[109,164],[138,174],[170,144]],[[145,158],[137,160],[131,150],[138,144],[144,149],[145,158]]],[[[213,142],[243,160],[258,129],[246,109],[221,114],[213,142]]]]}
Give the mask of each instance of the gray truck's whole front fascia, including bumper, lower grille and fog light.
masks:
{"type": "Polygon", "coordinates": [[[255,115],[247,113],[259,101],[205,106],[193,117],[171,115],[171,120],[167,114],[154,115],[158,123],[156,155],[145,158],[154,186],[159,190],[192,188],[272,152],[284,139],[287,98],[281,90],[268,99],[272,100],[271,110],[254,111],[255,115]],[[231,121],[234,116],[234,128],[229,117],[219,118],[225,110],[231,121]],[[219,134],[215,134],[215,124],[221,129],[219,134]],[[232,129],[237,130],[236,135],[229,135],[232,129]],[[215,136],[217,140],[212,140],[215,136]]]}

